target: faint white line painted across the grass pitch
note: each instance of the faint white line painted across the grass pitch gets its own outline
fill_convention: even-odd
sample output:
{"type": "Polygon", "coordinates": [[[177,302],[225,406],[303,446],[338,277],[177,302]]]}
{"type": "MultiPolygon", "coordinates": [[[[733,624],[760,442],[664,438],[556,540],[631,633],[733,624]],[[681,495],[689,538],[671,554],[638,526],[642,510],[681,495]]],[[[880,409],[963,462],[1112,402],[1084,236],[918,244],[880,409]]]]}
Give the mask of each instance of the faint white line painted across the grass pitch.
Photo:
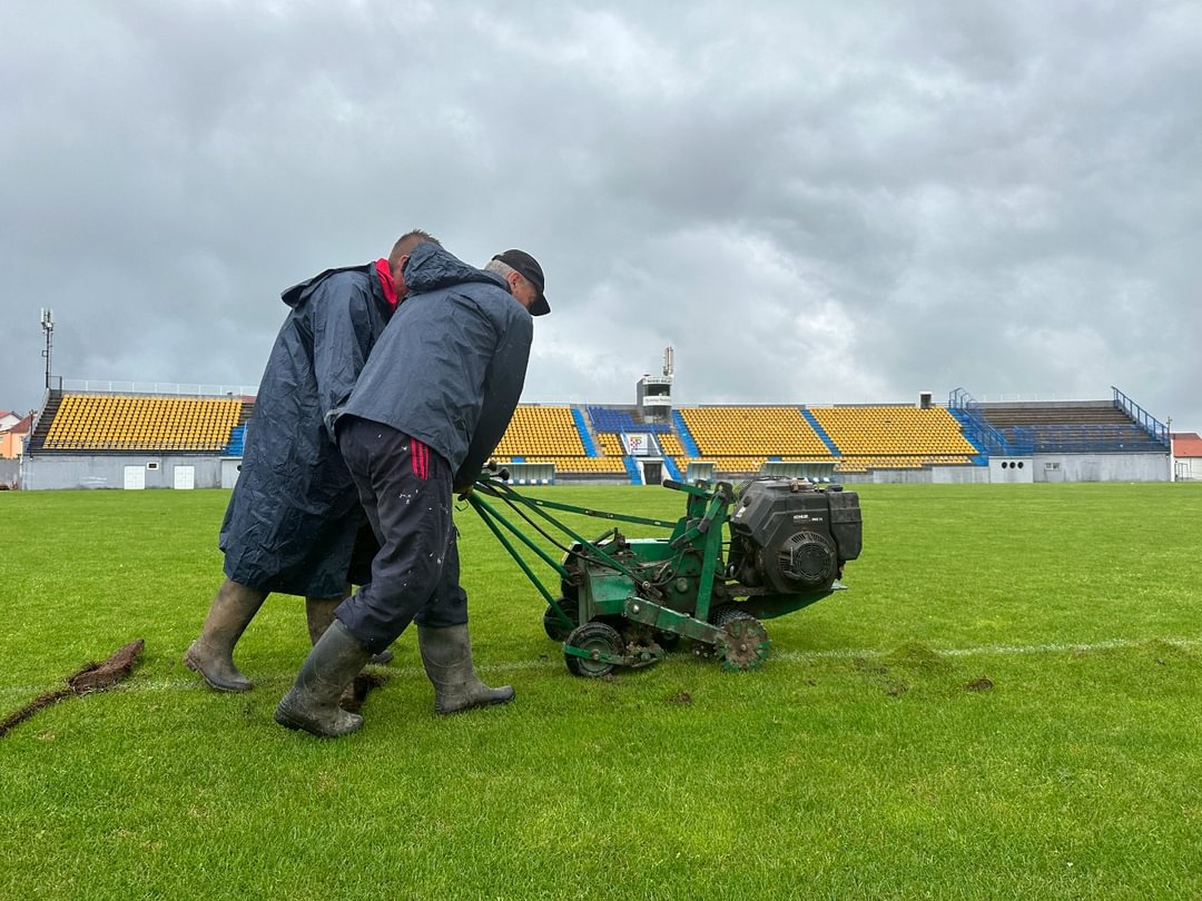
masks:
{"type": "MultiPolygon", "coordinates": [[[[932,648],[934,654],[945,657],[1013,657],[1039,654],[1089,654],[1090,651],[1109,651],[1124,648],[1139,648],[1150,642],[1160,642],[1173,648],[1200,648],[1202,638],[1112,638],[1105,642],[1091,643],[1063,643],[1063,644],[1030,644],[1030,645],[980,645],[977,648],[932,648]]],[[[895,649],[879,650],[875,648],[833,648],[826,651],[774,651],[768,658],[769,663],[798,662],[809,663],[825,660],[855,660],[857,657],[887,657],[895,649]]],[[[300,662],[297,661],[297,666],[300,662]]],[[[540,656],[536,660],[511,661],[508,663],[483,663],[476,669],[481,673],[519,673],[526,670],[560,668],[564,666],[563,657],[555,654],[540,656]]],[[[409,667],[383,667],[387,673],[395,676],[423,675],[423,670],[417,666],[409,667]]],[[[288,673],[249,673],[252,679],[260,682],[287,684],[294,675],[288,673]]],[[[0,698],[32,699],[34,696],[60,687],[61,682],[54,685],[16,686],[0,688],[0,698]]],[[[124,685],[114,686],[111,691],[117,692],[168,692],[168,691],[208,691],[200,676],[188,679],[154,679],[149,681],[138,680],[136,676],[124,685]]]]}

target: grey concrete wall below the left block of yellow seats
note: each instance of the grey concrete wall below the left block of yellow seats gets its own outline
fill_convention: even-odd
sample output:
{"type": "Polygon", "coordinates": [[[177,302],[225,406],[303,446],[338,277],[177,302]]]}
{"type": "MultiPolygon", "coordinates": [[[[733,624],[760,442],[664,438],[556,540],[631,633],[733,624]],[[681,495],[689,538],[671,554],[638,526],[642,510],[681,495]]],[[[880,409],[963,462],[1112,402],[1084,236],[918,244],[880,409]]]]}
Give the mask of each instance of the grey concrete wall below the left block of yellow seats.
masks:
{"type": "Polygon", "coordinates": [[[125,467],[139,466],[147,488],[174,488],[175,467],[191,466],[194,488],[221,488],[221,458],[137,454],[120,457],[88,457],[55,454],[25,457],[20,487],[28,490],[61,488],[125,488],[125,467]],[[156,463],[153,470],[148,463],[156,463]]]}

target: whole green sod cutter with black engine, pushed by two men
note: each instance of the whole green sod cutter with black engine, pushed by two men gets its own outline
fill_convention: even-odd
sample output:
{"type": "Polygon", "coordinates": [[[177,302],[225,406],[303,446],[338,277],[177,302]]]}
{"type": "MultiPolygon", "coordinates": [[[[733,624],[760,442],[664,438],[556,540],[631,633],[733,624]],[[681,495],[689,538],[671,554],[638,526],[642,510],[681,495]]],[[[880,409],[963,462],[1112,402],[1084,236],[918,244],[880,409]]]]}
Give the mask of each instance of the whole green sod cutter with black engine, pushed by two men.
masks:
{"type": "Polygon", "coordinates": [[[758,669],[772,649],[761,620],[845,589],[843,566],[859,556],[859,497],[840,485],[754,479],[736,494],[726,482],[664,482],[685,496],[685,515],[672,523],[530,497],[507,479],[489,464],[468,501],[547,602],[543,628],[563,642],[567,669],[578,676],[649,667],[682,638],[724,669],[758,669]],[[671,535],[629,538],[613,527],[589,541],[553,511],[671,535]],[[552,556],[516,519],[561,556],[552,556]],[[555,572],[558,592],[535,574],[518,544],[555,572]]]}

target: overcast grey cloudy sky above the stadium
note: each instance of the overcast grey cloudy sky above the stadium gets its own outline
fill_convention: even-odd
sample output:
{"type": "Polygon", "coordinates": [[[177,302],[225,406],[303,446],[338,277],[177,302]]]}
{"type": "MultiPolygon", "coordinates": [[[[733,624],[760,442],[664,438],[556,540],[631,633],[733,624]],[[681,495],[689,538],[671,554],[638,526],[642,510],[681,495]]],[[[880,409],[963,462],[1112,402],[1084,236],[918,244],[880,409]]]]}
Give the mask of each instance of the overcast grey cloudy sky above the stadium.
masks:
{"type": "Polygon", "coordinates": [[[1202,4],[8,0],[0,410],[258,383],[411,227],[547,274],[523,400],[1108,399],[1202,430],[1202,4]]]}

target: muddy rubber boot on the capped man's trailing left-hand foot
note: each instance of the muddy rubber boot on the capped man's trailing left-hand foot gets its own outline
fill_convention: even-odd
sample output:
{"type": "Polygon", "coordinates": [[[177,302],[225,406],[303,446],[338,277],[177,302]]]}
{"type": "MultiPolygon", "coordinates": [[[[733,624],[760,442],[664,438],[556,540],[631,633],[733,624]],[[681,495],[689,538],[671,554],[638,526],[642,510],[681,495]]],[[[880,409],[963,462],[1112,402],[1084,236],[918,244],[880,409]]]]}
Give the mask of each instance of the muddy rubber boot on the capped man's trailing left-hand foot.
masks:
{"type": "Polygon", "coordinates": [[[275,722],[322,738],[358,729],[363,717],[347,714],[338,700],[370,656],[350,629],[334,620],[300,664],[292,688],[275,708],[275,722]]]}

